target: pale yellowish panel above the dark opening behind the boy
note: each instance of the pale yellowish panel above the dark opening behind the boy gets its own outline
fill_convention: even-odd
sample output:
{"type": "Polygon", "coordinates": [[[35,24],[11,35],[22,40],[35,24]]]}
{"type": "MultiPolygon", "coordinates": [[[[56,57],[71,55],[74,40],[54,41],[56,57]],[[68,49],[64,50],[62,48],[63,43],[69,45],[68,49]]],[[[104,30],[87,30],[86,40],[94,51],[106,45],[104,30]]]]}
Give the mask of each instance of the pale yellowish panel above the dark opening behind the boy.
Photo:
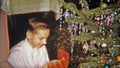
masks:
{"type": "Polygon", "coordinates": [[[8,15],[53,10],[57,14],[56,18],[60,16],[59,0],[3,0],[1,8],[8,15]]]}

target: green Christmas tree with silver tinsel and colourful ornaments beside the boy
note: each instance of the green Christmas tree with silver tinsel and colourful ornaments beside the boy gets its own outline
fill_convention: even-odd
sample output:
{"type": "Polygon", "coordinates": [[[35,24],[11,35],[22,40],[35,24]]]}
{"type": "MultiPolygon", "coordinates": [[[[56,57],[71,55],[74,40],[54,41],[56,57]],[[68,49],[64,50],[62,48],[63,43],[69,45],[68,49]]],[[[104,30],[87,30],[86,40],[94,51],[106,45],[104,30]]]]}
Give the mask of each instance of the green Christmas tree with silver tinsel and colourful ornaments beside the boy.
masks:
{"type": "Polygon", "coordinates": [[[91,9],[87,0],[60,0],[58,42],[70,53],[69,68],[119,67],[119,1],[99,3],[91,9]]]}

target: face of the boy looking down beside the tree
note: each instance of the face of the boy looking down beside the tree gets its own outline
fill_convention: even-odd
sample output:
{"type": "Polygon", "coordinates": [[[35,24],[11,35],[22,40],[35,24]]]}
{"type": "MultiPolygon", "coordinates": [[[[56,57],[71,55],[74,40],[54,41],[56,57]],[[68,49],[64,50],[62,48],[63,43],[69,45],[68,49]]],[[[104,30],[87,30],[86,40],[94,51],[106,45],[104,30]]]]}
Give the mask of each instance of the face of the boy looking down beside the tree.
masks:
{"type": "Polygon", "coordinates": [[[47,44],[49,34],[50,29],[39,29],[35,33],[31,32],[31,35],[29,36],[29,43],[32,45],[33,48],[40,48],[43,45],[47,44]]]}

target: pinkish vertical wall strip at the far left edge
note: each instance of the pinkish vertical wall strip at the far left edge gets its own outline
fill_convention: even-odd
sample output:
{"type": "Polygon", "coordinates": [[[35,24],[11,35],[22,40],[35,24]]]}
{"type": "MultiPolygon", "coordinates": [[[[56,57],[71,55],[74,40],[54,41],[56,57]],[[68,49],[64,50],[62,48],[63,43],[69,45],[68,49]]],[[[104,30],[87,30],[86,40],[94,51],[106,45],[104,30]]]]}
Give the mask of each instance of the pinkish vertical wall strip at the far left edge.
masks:
{"type": "Polygon", "coordinates": [[[9,53],[9,37],[7,14],[0,10],[0,68],[9,68],[7,57],[9,53]]]}

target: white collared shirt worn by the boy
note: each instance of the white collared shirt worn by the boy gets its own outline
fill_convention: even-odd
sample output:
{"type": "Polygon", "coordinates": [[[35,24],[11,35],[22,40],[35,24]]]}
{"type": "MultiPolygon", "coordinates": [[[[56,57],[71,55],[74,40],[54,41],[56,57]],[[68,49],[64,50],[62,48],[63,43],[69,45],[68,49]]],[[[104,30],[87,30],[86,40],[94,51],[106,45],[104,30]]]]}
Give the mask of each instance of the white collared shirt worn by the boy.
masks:
{"type": "Polygon", "coordinates": [[[45,68],[49,58],[45,46],[33,49],[25,39],[11,49],[8,62],[14,68],[45,68]]]}

